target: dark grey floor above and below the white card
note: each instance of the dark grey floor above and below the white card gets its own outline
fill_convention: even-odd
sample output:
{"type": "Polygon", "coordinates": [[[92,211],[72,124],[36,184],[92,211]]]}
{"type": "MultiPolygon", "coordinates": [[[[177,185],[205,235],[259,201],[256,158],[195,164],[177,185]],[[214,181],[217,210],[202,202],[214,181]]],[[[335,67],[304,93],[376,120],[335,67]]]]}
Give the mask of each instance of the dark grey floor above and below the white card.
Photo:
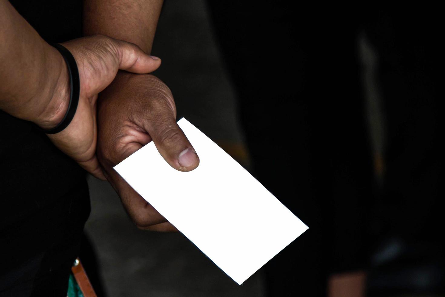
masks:
{"type": "MultiPolygon", "coordinates": [[[[155,73],[185,117],[247,164],[235,96],[214,40],[205,1],[166,1],[153,54],[155,73]]],[[[138,230],[108,183],[89,178],[95,245],[106,293],[114,296],[263,296],[263,275],[237,285],[180,233],[138,230]]]]}

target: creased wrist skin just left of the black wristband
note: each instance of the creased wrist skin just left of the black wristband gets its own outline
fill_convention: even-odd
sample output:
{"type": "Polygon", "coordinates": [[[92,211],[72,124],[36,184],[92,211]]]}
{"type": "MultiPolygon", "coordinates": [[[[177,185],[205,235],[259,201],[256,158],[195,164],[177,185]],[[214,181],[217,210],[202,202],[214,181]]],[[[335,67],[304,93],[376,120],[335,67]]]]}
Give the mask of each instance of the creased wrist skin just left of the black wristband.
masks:
{"type": "Polygon", "coordinates": [[[69,105],[70,85],[68,69],[62,55],[53,46],[45,44],[45,79],[40,92],[33,99],[38,111],[31,119],[43,129],[51,129],[62,121],[69,105]]]}

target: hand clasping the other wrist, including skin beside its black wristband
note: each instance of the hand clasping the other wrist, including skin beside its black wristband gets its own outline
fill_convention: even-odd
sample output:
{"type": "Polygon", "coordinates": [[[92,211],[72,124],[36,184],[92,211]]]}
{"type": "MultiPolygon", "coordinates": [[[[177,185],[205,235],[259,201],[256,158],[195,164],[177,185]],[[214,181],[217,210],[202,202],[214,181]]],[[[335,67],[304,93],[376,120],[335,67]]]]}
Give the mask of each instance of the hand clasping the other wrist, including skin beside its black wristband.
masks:
{"type": "MultiPolygon", "coordinates": [[[[69,126],[57,134],[49,134],[48,137],[85,170],[97,178],[105,179],[96,157],[97,95],[113,81],[118,69],[150,73],[159,67],[161,60],[147,55],[137,45],[100,35],[75,39],[62,45],[76,59],[81,86],[80,98],[69,126]]],[[[63,57],[57,51],[56,54],[59,63],[66,69],[63,57]]],[[[66,70],[59,77],[53,94],[57,94],[51,101],[53,111],[49,109],[49,116],[47,112],[35,121],[45,129],[56,126],[68,108],[69,80],[66,70]]]]}

